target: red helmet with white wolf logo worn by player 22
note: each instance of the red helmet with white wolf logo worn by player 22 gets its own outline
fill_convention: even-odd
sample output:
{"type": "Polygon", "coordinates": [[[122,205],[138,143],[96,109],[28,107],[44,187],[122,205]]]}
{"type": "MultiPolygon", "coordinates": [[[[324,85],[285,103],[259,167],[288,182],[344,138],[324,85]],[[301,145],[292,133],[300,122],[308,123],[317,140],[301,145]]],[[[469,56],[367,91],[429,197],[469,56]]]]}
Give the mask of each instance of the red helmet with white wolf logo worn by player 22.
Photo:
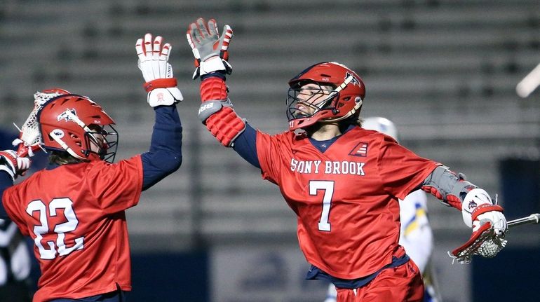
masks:
{"type": "Polygon", "coordinates": [[[83,161],[114,161],[118,147],[114,121],[92,99],[60,92],[43,105],[38,121],[44,149],[67,151],[83,161]]]}

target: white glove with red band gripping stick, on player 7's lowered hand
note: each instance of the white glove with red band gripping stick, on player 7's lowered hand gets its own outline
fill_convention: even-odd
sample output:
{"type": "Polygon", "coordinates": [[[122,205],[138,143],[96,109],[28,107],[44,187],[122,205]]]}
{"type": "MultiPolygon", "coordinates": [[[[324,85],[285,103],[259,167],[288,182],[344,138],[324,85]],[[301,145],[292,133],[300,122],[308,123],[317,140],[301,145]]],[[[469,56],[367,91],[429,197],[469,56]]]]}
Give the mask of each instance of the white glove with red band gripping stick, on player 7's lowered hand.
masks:
{"type": "Polygon", "coordinates": [[[490,195],[481,188],[469,191],[461,205],[463,221],[469,228],[473,228],[473,232],[478,231],[478,228],[486,222],[490,222],[495,233],[504,236],[508,231],[508,225],[503,212],[503,207],[494,204],[490,195]]]}

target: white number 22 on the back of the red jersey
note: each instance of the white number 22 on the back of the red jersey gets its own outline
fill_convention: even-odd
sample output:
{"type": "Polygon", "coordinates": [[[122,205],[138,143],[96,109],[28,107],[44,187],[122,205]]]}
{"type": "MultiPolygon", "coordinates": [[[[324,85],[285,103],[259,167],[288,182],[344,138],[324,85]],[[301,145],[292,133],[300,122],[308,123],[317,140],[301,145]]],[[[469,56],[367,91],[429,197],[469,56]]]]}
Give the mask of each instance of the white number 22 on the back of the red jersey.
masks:
{"type": "Polygon", "coordinates": [[[57,224],[54,228],[54,232],[58,235],[56,239],[56,246],[58,247],[58,254],[60,256],[65,256],[76,249],[83,249],[84,238],[79,237],[75,238],[75,243],[72,247],[66,247],[64,242],[65,233],[75,231],[75,228],[79,224],[79,219],[77,219],[75,212],[73,210],[73,202],[69,198],[54,198],[50,201],[48,211],[45,203],[41,200],[33,200],[28,204],[26,212],[32,216],[34,212],[39,213],[39,222],[41,225],[34,226],[34,234],[36,238],[34,243],[39,249],[39,256],[41,259],[55,259],[57,250],[55,249],[55,242],[47,241],[48,249],[43,247],[41,240],[43,239],[42,234],[49,233],[48,226],[48,217],[55,217],[57,215],[57,210],[63,209],[64,216],[67,221],[63,224],[57,224]],[[48,214],[48,215],[47,215],[48,214]]]}

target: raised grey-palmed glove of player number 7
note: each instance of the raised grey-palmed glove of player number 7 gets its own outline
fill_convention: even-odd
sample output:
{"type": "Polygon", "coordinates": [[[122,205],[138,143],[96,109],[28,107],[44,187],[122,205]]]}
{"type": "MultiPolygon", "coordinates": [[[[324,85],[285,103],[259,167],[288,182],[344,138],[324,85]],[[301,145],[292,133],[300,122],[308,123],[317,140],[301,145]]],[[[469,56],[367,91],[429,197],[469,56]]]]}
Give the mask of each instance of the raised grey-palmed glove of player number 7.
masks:
{"type": "Polygon", "coordinates": [[[203,18],[198,18],[189,25],[186,36],[195,56],[196,69],[193,79],[215,71],[231,74],[232,67],[227,60],[233,30],[229,25],[223,27],[223,34],[220,36],[214,19],[210,19],[207,23],[203,18]]]}

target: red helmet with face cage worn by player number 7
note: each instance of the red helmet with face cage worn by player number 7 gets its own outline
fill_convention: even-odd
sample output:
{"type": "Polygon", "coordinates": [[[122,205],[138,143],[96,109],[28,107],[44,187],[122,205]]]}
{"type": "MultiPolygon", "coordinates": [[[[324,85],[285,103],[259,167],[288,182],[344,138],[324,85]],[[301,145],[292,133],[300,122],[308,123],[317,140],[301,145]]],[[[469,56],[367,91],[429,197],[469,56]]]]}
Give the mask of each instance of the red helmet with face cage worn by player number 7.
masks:
{"type": "MultiPolygon", "coordinates": [[[[318,122],[342,121],[355,114],[358,116],[365,97],[365,85],[360,76],[337,62],[314,64],[292,78],[289,86],[287,117],[290,130],[306,128],[318,122]],[[318,100],[316,104],[305,97],[299,98],[299,95],[306,95],[302,87],[309,83],[318,85],[318,90],[328,97],[323,101],[318,100]],[[305,105],[314,109],[313,112],[303,110],[305,105]]],[[[313,92],[313,88],[309,90],[313,92]]]]}

